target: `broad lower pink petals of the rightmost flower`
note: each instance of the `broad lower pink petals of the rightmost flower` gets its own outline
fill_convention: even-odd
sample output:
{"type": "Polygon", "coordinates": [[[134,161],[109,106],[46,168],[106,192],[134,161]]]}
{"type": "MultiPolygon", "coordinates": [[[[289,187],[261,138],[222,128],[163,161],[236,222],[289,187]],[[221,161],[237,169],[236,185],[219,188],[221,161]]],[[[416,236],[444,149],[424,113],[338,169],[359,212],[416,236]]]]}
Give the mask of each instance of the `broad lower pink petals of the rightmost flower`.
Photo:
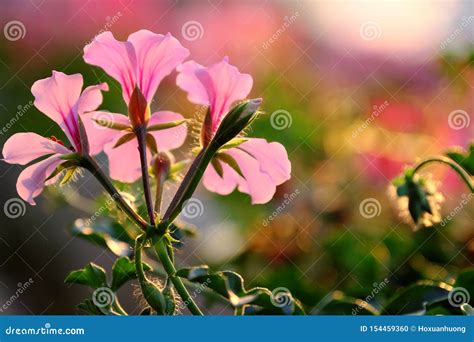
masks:
{"type": "Polygon", "coordinates": [[[227,195],[238,187],[240,192],[250,195],[252,204],[263,204],[272,199],[277,185],[291,177],[291,163],[285,148],[279,143],[249,139],[225,153],[236,160],[245,178],[223,162],[223,177],[209,165],[203,178],[209,191],[227,195]]]}

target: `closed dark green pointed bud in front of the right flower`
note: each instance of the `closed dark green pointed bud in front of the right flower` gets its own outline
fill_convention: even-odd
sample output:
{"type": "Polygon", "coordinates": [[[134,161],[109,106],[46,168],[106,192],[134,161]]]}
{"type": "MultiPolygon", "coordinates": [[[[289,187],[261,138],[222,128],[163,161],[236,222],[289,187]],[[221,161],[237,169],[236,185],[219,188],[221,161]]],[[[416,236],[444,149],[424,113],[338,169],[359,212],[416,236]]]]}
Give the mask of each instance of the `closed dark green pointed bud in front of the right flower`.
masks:
{"type": "Polygon", "coordinates": [[[236,105],[222,120],[212,139],[218,146],[222,146],[235,138],[256,117],[262,99],[248,100],[236,105]]]}

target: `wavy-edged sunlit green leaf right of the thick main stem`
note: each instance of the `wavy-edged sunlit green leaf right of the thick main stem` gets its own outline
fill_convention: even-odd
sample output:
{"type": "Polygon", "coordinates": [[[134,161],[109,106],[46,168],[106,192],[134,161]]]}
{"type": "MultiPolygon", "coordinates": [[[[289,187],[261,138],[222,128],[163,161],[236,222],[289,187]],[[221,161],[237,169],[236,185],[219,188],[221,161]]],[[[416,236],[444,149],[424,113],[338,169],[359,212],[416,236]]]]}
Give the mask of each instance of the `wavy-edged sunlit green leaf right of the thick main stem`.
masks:
{"type": "Polygon", "coordinates": [[[301,303],[284,288],[272,291],[262,287],[246,290],[243,278],[232,271],[211,273],[206,265],[183,268],[176,275],[201,284],[218,293],[234,308],[242,307],[244,314],[304,315],[301,303]],[[284,289],[276,292],[276,290],[284,289]]]}

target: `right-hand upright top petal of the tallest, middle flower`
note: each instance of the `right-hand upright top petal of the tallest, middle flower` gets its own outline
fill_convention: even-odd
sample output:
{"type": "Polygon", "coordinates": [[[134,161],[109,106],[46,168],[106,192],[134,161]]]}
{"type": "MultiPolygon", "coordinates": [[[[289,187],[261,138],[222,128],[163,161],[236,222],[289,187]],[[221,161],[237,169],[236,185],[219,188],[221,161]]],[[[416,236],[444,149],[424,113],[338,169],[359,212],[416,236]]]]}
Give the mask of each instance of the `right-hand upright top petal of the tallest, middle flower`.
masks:
{"type": "Polygon", "coordinates": [[[169,33],[164,36],[140,30],[128,41],[137,56],[137,85],[150,103],[160,82],[189,56],[189,50],[169,33]]]}

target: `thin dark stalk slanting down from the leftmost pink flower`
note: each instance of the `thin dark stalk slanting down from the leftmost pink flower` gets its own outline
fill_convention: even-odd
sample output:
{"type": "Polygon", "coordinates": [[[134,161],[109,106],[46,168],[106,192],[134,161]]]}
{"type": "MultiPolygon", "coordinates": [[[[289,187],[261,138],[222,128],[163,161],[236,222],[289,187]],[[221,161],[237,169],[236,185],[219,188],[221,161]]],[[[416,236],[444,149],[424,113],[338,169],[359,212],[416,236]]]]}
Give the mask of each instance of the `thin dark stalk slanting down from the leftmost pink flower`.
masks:
{"type": "Polygon", "coordinates": [[[146,231],[148,224],[145,220],[133,210],[130,205],[124,200],[122,195],[117,191],[115,186],[109,180],[109,178],[102,172],[99,165],[90,156],[83,156],[80,159],[80,165],[85,169],[89,170],[90,173],[102,184],[107,192],[112,196],[117,206],[122,209],[130,220],[136,223],[140,228],[146,231]]]}

